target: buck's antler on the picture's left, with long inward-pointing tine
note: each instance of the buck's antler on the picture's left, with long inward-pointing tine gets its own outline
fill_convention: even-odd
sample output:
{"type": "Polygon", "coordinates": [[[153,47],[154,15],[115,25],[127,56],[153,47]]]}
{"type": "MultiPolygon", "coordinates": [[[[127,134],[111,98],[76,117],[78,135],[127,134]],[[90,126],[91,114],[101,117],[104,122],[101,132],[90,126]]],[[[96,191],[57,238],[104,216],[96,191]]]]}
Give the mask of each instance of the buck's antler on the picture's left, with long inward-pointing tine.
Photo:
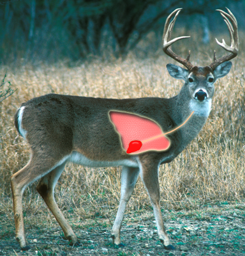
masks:
{"type": "Polygon", "coordinates": [[[188,68],[188,70],[190,70],[193,67],[193,65],[191,65],[191,63],[189,62],[190,51],[189,51],[188,58],[184,59],[184,58],[177,56],[177,54],[175,54],[171,49],[171,45],[174,44],[174,42],[190,37],[190,36],[179,36],[179,37],[171,40],[172,31],[174,29],[174,24],[175,24],[175,21],[179,15],[179,12],[181,12],[181,10],[182,10],[182,8],[178,8],[178,9],[174,10],[174,12],[172,12],[167,17],[167,20],[166,20],[165,26],[164,26],[164,30],[163,30],[163,51],[168,56],[170,56],[174,60],[178,61],[179,63],[184,65],[186,68],[188,68]],[[170,22],[172,17],[174,17],[174,19],[172,20],[172,22],[170,22]]]}

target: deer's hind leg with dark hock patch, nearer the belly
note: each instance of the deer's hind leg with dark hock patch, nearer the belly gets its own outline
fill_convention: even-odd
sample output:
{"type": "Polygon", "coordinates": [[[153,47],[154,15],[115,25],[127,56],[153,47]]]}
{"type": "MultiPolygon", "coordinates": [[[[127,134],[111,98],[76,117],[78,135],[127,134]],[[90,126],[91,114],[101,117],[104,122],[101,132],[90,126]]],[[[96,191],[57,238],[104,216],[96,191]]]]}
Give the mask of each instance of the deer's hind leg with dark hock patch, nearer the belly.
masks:
{"type": "Polygon", "coordinates": [[[57,222],[61,226],[64,232],[64,236],[66,239],[68,239],[69,244],[78,245],[77,236],[73,232],[71,226],[68,224],[68,221],[64,218],[54,199],[54,188],[56,186],[57,180],[64,170],[65,165],[66,162],[57,166],[54,170],[52,170],[52,172],[42,177],[36,189],[47,204],[48,209],[50,209],[57,222]]]}

